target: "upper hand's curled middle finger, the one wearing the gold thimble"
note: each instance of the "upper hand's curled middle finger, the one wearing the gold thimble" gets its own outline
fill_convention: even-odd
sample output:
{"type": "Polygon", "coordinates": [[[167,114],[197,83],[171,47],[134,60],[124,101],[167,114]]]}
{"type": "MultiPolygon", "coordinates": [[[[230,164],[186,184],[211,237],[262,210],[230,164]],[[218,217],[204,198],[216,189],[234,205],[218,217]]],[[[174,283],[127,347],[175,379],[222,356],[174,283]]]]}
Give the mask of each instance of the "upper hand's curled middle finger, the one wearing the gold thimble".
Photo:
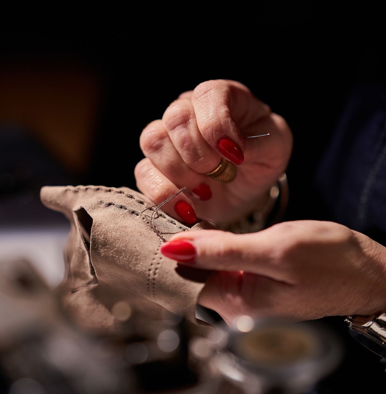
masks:
{"type": "Polygon", "coordinates": [[[162,123],[174,148],[190,169],[206,173],[217,167],[221,157],[202,137],[191,100],[172,102],[163,114],[162,123]]]}

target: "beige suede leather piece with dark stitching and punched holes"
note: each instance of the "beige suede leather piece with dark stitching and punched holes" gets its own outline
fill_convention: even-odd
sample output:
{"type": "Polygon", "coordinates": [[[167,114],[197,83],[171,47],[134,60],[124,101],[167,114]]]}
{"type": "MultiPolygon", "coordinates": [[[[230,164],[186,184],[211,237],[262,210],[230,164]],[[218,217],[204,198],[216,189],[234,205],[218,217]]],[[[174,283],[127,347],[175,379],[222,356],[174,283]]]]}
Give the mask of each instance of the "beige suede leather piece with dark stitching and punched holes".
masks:
{"type": "MultiPolygon", "coordinates": [[[[155,303],[200,324],[195,305],[210,272],[177,267],[161,255],[163,241],[152,229],[152,210],[146,210],[154,204],[144,195],[129,188],[46,186],[41,201],[71,222],[63,300],[80,325],[114,330],[117,322],[110,310],[120,300],[131,304],[135,300],[149,313],[159,315],[155,303]]],[[[190,230],[161,210],[158,213],[154,223],[165,240],[190,230]]],[[[192,227],[203,228],[213,226],[201,222],[192,227]]]]}

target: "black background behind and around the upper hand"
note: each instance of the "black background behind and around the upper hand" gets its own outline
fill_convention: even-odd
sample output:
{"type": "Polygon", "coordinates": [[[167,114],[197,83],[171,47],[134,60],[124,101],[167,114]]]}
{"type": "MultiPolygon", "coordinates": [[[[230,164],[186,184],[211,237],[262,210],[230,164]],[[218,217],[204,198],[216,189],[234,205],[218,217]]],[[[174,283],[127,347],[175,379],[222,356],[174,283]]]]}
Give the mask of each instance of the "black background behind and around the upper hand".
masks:
{"type": "MultiPolygon", "coordinates": [[[[6,125],[0,131],[0,165],[4,166],[0,174],[13,174],[20,160],[34,169],[33,176],[13,174],[11,184],[0,182],[3,202],[13,201],[12,196],[27,188],[37,206],[43,184],[135,188],[133,170],[143,157],[138,142],[143,127],[159,119],[183,91],[205,80],[227,78],[247,85],[293,131],[287,219],[328,219],[312,179],[352,89],[384,84],[384,33],[382,26],[371,23],[377,10],[363,10],[366,16],[358,10],[354,18],[329,10],[333,17],[327,19],[312,6],[259,3],[223,11],[190,7],[186,11],[133,6],[98,15],[94,10],[83,15],[61,10],[49,17],[2,15],[0,55],[5,79],[14,69],[27,78],[30,68],[71,69],[80,78],[91,78],[98,92],[93,126],[85,138],[87,159],[79,167],[49,149],[44,133],[36,138],[32,132],[36,126],[0,118],[6,125]],[[22,130],[17,139],[9,125],[22,130]]],[[[69,136],[67,143],[77,145],[77,136],[69,136]]],[[[7,209],[14,206],[9,203],[7,209]]],[[[4,209],[2,214],[4,224],[9,217],[4,209]]],[[[25,216],[17,220],[28,221],[25,216]]],[[[348,349],[343,367],[328,381],[328,390],[340,392],[351,386],[348,379],[353,378],[370,379],[373,384],[382,381],[379,357],[351,340],[343,319],[330,318],[327,323],[348,349]]]]}

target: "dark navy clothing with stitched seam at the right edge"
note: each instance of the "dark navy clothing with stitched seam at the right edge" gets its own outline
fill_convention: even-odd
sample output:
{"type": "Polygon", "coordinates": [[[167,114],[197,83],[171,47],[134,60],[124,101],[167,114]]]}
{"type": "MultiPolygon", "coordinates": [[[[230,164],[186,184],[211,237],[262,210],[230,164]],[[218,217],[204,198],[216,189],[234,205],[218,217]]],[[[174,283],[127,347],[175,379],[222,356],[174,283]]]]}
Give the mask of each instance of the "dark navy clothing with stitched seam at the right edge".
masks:
{"type": "Polygon", "coordinates": [[[386,246],[386,91],[351,96],[318,169],[316,187],[334,221],[386,246]]]}

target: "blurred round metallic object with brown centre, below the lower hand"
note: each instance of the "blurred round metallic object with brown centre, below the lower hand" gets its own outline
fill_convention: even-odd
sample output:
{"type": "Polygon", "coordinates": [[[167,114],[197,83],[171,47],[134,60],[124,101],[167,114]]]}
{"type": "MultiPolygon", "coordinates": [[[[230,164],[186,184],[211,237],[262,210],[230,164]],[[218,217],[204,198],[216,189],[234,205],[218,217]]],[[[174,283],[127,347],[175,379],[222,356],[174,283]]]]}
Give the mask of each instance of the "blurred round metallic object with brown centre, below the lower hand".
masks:
{"type": "Polygon", "coordinates": [[[340,343],[311,323],[240,316],[231,329],[209,337],[216,352],[210,364],[246,394],[314,390],[341,361],[340,343]]]}

